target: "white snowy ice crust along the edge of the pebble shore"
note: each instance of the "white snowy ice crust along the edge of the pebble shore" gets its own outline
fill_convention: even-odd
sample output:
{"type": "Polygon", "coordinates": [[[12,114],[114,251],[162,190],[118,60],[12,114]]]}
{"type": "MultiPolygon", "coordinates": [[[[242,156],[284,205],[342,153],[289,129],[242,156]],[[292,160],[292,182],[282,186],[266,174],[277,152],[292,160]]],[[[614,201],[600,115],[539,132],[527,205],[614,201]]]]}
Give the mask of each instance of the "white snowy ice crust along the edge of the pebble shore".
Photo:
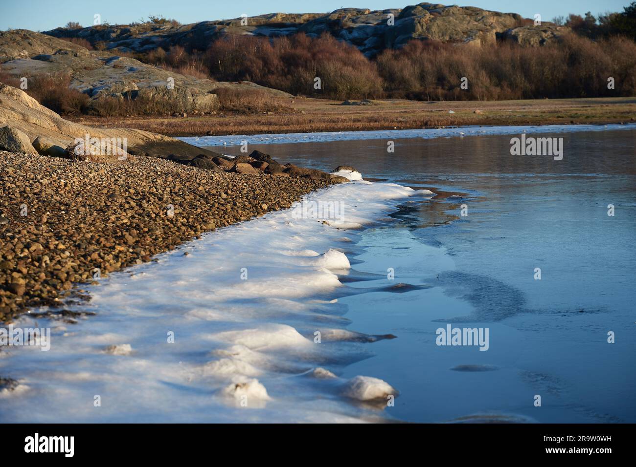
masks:
{"type": "Polygon", "coordinates": [[[111,274],[89,288],[90,304],[73,308],[95,316],[38,320],[52,327],[50,351],[3,350],[0,375],[29,389],[4,397],[0,419],[359,421],[368,409],[352,398],[397,390],[373,375],[336,376],[375,340],[343,329],[346,308],[332,295],[343,287],[335,271],[350,267],[341,250],[350,254],[357,235],[342,226],[382,222],[412,195],[422,196],[396,184],[340,184],[303,201],[339,205],[337,220],[295,206],[111,274]]]}

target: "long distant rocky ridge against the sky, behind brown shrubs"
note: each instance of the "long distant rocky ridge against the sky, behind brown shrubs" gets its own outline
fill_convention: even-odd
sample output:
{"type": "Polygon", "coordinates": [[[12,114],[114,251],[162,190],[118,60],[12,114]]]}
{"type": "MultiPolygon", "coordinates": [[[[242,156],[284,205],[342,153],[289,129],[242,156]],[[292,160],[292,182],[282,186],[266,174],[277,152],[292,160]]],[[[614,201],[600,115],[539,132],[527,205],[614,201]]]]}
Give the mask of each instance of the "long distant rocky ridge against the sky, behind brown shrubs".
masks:
{"type": "Polygon", "coordinates": [[[437,39],[476,46],[508,39],[524,46],[538,46],[567,29],[550,23],[541,26],[526,23],[516,13],[420,3],[391,10],[342,8],[328,14],[271,13],[182,26],[146,23],[57,28],[45,34],[86,39],[93,45],[103,43],[107,50],[143,52],[174,45],[205,50],[211,41],[232,34],[277,37],[304,32],[315,37],[328,33],[353,44],[367,57],[373,57],[385,48],[399,48],[411,39],[437,39]]]}

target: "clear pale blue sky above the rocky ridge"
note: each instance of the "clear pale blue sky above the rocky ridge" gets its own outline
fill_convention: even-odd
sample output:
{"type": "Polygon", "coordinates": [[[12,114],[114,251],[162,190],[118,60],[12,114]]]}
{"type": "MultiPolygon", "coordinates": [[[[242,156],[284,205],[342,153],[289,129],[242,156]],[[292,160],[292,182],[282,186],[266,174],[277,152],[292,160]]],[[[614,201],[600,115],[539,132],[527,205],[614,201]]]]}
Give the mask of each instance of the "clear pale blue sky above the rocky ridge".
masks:
{"type": "MultiPolygon", "coordinates": [[[[110,24],[128,24],[148,15],[163,15],[175,18],[183,24],[204,20],[238,18],[263,13],[326,13],[342,7],[404,8],[420,3],[417,0],[0,0],[0,30],[31,29],[50,30],[76,21],[83,26],[93,23],[93,15],[99,13],[102,21],[110,24]]],[[[430,3],[434,3],[431,0],[430,3]]],[[[468,0],[460,6],[478,6],[485,10],[519,13],[525,18],[541,13],[543,20],[568,13],[583,15],[591,11],[593,15],[606,11],[623,11],[629,0],[468,0]]],[[[448,4],[452,4],[448,1],[448,4]]]]}

